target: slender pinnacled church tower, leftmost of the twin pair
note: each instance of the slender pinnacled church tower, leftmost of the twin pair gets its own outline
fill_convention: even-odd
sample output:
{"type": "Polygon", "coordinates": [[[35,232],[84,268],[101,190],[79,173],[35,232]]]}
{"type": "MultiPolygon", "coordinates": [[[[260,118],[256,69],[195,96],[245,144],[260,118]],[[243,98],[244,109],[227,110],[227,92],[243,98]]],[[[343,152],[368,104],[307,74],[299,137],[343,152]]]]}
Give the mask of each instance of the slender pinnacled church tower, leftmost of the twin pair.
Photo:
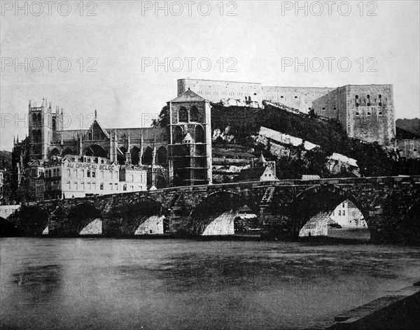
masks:
{"type": "Polygon", "coordinates": [[[29,100],[29,158],[45,160],[51,142],[51,104],[47,107],[47,100],[43,99],[40,107],[31,105],[29,100]]]}

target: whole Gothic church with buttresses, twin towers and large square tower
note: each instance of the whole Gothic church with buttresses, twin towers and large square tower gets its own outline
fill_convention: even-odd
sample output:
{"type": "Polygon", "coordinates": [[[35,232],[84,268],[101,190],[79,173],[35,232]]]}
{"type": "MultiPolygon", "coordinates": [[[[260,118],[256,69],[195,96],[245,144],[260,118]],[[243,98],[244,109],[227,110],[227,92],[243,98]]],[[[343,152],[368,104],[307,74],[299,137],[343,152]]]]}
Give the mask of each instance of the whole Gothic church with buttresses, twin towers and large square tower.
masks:
{"type": "Polygon", "coordinates": [[[29,101],[29,135],[15,141],[13,173],[16,187],[34,161],[47,164],[66,155],[102,157],[120,166],[147,172],[147,186],[176,187],[211,183],[210,103],[190,89],[167,102],[167,127],[105,128],[95,110],[89,129],[64,130],[63,109],[43,99],[29,101]]]}

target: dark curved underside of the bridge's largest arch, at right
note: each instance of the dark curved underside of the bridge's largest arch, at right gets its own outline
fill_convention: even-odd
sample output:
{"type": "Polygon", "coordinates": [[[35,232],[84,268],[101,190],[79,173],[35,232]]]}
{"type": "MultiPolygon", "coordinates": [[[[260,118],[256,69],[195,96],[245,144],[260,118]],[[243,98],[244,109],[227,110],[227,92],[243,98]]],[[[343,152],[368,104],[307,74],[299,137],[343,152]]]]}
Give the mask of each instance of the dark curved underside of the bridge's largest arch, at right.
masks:
{"type": "Polygon", "coordinates": [[[370,227],[369,212],[363,203],[347,189],[336,185],[316,185],[297,194],[288,206],[286,214],[290,220],[291,234],[294,238],[300,229],[315,215],[329,217],[340,203],[351,201],[362,213],[370,227]]]}

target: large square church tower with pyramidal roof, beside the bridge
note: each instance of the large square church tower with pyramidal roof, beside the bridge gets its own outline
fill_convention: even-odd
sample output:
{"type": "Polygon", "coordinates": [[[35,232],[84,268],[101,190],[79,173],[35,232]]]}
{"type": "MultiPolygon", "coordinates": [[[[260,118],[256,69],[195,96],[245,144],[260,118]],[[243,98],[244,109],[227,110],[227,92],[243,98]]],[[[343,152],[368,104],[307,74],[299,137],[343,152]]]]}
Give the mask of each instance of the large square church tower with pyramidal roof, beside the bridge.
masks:
{"type": "Polygon", "coordinates": [[[210,103],[188,89],[169,106],[169,173],[174,186],[211,184],[210,103]]]}

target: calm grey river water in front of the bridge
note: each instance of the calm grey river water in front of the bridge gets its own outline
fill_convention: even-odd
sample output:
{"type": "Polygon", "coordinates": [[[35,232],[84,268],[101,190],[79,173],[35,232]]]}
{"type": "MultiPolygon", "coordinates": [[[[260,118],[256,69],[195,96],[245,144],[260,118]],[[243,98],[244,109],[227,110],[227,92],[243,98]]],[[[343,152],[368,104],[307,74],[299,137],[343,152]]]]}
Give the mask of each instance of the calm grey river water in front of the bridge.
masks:
{"type": "Polygon", "coordinates": [[[306,329],[420,280],[420,248],[0,238],[0,329],[306,329]]]}

